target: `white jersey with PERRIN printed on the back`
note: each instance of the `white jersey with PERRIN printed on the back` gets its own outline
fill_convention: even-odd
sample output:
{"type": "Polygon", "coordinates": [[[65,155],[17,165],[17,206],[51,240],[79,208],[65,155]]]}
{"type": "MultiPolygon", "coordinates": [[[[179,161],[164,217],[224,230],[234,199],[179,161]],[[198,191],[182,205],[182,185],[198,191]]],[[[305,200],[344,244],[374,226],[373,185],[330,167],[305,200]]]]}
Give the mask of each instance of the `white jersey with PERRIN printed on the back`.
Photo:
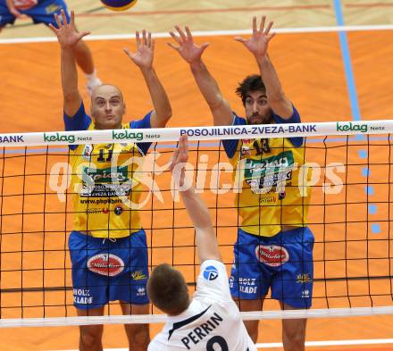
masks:
{"type": "Polygon", "coordinates": [[[230,297],[225,265],[215,260],[201,264],[197,291],[188,309],[168,317],[148,351],[256,351],[230,297]]]}

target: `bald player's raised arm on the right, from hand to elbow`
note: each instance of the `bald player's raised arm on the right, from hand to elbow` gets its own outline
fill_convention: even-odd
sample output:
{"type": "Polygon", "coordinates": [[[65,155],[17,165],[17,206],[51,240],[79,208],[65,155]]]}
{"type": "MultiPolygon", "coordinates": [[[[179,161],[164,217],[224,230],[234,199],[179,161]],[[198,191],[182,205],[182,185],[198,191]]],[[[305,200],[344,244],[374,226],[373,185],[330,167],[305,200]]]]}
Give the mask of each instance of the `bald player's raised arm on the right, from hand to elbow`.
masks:
{"type": "Polygon", "coordinates": [[[138,31],[136,37],[137,52],[133,54],[128,48],[123,49],[123,51],[139,67],[140,71],[142,71],[150,96],[152,97],[155,111],[150,116],[151,127],[163,128],[171,118],[171,104],[153,68],[155,39],[152,38],[152,33],[146,33],[145,29],[142,30],[142,38],[139,37],[138,31]]]}

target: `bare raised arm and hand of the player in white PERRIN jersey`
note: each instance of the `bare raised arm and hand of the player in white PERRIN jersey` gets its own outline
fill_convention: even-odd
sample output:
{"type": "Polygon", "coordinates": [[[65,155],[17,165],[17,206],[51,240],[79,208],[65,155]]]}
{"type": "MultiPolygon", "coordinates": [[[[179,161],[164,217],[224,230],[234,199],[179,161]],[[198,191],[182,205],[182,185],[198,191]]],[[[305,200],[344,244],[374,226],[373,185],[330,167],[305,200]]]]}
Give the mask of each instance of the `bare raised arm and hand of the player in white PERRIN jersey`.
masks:
{"type": "MultiPolygon", "coordinates": [[[[188,160],[188,141],[187,136],[180,137],[179,146],[175,151],[170,169],[172,175],[180,172],[180,187],[183,187],[185,181],[185,163],[188,160]]],[[[205,203],[196,194],[194,187],[185,191],[180,191],[181,198],[186,206],[187,213],[191,218],[196,229],[197,252],[200,263],[205,260],[221,261],[220,250],[217,244],[217,238],[213,231],[212,219],[205,203]]]]}

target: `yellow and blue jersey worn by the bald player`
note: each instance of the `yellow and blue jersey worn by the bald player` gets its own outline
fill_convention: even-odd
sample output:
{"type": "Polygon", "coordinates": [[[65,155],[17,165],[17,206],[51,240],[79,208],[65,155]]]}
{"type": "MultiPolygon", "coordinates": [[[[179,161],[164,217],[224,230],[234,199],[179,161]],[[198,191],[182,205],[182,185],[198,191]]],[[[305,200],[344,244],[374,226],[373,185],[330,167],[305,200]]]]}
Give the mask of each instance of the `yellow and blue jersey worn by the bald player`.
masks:
{"type": "MultiPolygon", "coordinates": [[[[150,114],[123,129],[150,128],[150,114]]],[[[94,130],[81,104],[74,117],[64,115],[65,130],[94,130]]],[[[123,238],[142,228],[138,212],[143,188],[143,158],[151,143],[70,146],[72,230],[96,238],[123,238]]]]}

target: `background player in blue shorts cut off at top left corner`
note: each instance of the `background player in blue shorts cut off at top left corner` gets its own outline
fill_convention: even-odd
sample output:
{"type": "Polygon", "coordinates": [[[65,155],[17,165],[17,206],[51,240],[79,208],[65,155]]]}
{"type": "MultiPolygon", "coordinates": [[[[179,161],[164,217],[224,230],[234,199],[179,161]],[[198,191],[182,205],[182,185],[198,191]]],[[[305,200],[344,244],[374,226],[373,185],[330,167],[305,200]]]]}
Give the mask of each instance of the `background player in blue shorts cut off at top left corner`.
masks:
{"type": "MultiPolygon", "coordinates": [[[[30,17],[35,24],[55,25],[54,13],[60,14],[62,9],[64,18],[70,21],[67,5],[63,0],[0,0],[0,31],[23,16],[30,17]]],[[[93,57],[83,40],[79,40],[75,46],[75,57],[80,69],[86,74],[86,89],[91,96],[94,88],[101,84],[101,80],[96,76],[93,57]]]]}

